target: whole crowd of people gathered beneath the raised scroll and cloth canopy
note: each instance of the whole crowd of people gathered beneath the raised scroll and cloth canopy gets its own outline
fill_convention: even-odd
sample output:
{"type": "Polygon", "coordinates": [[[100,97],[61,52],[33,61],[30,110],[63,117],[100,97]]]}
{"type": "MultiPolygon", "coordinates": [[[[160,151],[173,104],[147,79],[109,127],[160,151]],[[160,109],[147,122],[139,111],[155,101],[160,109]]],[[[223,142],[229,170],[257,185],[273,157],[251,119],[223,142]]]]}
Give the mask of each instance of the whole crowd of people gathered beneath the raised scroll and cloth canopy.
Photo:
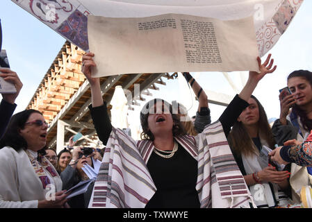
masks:
{"type": "Polygon", "coordinates": [[[279,95],[281,113],[272,127],[252,95],[259,81],[277,69],[271,55],[263,63],[255,58],[259,72],[249,71],[245,87],[214,123],[208,96],[195,78],[183,73],[199,101],[196,115],[188,117],[181,103],[153,99],[140,112],[141,140],[134,141],[110,123],[99,78],[91,76],[94,56],[83,56],[82,71],[90,84],[90,115],[105,145],[103,153],[75,146],[73,137],[59,153],[47,148],[43,114],[24,110],[13,115],[23,84],[14,71],[0,68],[0,76],[17,89],[2,94],[0,103],[0,207],[300,205],[300,189],[312,183],[311,71],[289,74],[291,93],[279,95]],[[95,168],[97,160],[96,180],[68,198],[67,190],[91,179],[85,164],[95,168]]]}

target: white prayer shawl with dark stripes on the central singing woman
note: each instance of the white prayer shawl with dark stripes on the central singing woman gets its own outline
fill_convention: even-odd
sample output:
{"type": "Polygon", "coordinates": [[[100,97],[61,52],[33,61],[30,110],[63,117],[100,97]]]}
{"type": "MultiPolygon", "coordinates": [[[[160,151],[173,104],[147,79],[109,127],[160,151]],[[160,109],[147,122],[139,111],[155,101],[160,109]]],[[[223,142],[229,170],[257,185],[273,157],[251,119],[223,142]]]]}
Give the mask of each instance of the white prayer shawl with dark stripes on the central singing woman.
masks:
{"type": "MultiPolygon", "coordinates": [[[[174,137],[198,161],[196,189],[201,207],[250,207],[252,196],[231,153],[220,121],[203,133],[174,137]]],[[[89,207],[143,208],[156,192],[147,169],[153,142],[135,142],[113,128],[89,207]]]]}

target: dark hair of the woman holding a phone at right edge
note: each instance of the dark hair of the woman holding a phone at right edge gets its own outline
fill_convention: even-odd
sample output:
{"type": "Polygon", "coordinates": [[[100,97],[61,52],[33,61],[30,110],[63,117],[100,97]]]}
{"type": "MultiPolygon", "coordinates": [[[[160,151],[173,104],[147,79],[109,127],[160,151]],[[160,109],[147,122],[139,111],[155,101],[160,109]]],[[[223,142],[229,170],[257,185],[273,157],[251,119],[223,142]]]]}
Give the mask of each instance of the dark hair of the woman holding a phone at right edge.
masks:
{"type": "MultiPolygon", "coordinates": [[[[293,77],[305,78],[312,87],[312,72],[311,71],[302,70],[302,69],[293,71],[291,74],[288,75],[287,80],[293,77]]],[[[300,117],[300,121],[302,122],[302,126],[304,130],[307,130],[310,132],[312,130],[312,119],[309,119],[308,117],[306,117],[306,112],[300,109],[298,105],[295,105],[293,107],[292,112],[294,112],[300,117]]]]}

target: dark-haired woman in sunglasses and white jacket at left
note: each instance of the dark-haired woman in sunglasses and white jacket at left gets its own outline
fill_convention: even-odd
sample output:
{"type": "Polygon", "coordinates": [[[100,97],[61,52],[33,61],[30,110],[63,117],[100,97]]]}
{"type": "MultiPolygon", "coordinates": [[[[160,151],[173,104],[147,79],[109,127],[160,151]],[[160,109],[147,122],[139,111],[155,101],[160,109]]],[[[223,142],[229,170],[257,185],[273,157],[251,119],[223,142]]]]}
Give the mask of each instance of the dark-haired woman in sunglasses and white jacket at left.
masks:
{"type": "Polygon", "coordinates": [[[63,207],[67,195],[44,155],[47,123],[38,110],[15,114],[0,140],[0,207],[63,207]]]}

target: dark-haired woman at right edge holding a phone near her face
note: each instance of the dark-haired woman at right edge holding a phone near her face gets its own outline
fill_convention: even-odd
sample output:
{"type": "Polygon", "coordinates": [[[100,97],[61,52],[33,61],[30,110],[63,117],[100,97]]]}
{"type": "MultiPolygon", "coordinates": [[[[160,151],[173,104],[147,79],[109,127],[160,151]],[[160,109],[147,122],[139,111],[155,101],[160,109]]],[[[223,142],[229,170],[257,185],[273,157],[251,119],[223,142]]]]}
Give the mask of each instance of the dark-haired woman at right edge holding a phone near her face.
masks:
{"type": "MultiPolygon", "coordinates": [[[[312,130],[312,72],[308,70],[296,70],[288,75],[287,85],[291,94],[279,100],[281,114],[274,121],[272,132],[277,139],[277,144],[283,146],[284,142],[296,139],[304,142],[312,130]]],[[[295,144],[294,144],[295,145],[295,144]]],[[[302,186],[312,184],[311,167],[299,167],[291,164],[290,185],[293,198],[300,201],[297,191],[302,186]]]]}

